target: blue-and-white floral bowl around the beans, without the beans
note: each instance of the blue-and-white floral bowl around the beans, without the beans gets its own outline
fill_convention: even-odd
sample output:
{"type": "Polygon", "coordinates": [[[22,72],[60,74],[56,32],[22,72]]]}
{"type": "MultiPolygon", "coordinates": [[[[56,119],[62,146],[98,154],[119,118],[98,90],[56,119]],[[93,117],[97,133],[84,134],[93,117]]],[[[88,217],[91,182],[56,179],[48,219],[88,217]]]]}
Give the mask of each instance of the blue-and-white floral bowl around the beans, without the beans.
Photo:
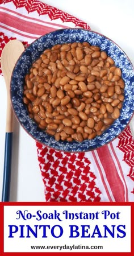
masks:
{"type": "Polygon", "coordinates": [[[33,42],[22,53],[17,61],[11,79],[11,101],[20,125],[36,141],[43,143],[56,150],[70,152],[81,152],[94,150],[112,141],[128,125],[134,111],[134,71],[131,61],[127,55],[112,40],[94,31],[77,28],[56,30],[47,35],[41,36],[33,42]],[[120,117],[101,136],[83,142],[55,141],[55,138],[39,129],[36,123],[28,116],[26,105],[23,103],[24,76],[27,74],[33,61],[35,61],[46,48],[51,48],[55,44],[89,42],[92,45],[101,47],[107,55],[112,57],[115,65],[122,70],[122,78],[125,81],[125,100],[120,117]]]}

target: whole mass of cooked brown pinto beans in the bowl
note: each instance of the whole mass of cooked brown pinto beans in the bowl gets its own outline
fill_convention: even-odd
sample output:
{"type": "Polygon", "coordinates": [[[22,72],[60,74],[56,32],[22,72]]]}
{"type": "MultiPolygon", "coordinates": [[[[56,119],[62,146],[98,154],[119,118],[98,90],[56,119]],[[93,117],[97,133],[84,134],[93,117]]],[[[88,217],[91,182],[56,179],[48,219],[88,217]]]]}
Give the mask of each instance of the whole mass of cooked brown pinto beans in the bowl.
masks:
{"type": "Polygon", "coordinates": [[[89,43],[46,49],[25,77],[23,102],[40,129],[56,141],[101,135],[120,116],[122,71],[89,43]]]}

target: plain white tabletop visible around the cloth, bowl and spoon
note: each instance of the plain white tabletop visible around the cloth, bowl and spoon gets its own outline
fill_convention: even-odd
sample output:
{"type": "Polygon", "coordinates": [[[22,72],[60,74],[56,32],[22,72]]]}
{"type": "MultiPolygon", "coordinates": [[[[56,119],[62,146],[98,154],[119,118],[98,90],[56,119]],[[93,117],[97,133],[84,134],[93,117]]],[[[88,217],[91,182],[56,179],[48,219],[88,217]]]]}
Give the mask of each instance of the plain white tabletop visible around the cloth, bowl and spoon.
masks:
{"type": "MultiPolygon", "coordinates": [[[[114,40],[134,64],[133,0],[44,0],[90,24],[92,30],[114,40]]],[[[0,76],[0,196],[5,147],[6,88],[0,76]]],[[[131,129],[134,122],[131,121],[131,129]]],[[[134,130],[134,129],[133,129],[134,130]]],[[[15,122],[10,201],[45,201],[35,141],[15,122]]]]}

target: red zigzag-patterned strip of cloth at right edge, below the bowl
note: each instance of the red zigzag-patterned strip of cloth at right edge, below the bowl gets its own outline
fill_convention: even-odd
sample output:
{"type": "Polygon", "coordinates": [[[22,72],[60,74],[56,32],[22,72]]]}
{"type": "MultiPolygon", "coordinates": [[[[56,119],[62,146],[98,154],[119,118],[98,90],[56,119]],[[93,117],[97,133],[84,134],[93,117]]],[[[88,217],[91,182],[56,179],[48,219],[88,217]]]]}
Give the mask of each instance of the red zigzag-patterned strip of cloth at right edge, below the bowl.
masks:
{"type": "MultiPolygon", "coordinates": [[[[128,164],[130,167],[130,171],[128,176],[134,180],[134,150],[133,150],[133,137],[131,134],[130,127],[127,128],[119,135],[119,144],[118,148],[123,151],[124,158],[123,160],[128,164]]],[[[134,193],[134,189],[133,189],[134,193]]]]}

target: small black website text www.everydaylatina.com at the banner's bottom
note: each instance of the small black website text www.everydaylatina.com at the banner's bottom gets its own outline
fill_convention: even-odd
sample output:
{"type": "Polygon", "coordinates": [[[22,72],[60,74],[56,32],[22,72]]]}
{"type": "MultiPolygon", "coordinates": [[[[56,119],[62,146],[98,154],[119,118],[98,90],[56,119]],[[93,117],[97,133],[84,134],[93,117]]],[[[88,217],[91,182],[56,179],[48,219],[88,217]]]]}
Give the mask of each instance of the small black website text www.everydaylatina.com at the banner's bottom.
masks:
{"type": "Polygon", "coordinates": [[[103,250],[102,245],[31,245],[32,250],[103,250]]]}

